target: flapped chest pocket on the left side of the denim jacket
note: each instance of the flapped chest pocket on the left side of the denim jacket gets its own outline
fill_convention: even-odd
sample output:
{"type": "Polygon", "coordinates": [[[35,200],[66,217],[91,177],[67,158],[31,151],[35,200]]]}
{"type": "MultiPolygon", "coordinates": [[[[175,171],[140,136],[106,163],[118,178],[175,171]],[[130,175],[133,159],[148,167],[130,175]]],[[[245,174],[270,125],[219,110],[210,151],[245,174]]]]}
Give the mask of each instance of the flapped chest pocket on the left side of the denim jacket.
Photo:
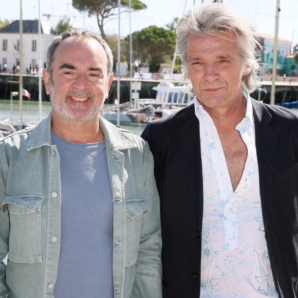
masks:
{"type": "Polygon", "coordinates": [[[34,195],[4,198],[1,210],[9,212],[8,259],[11,262],[42,262],[42,200],[43,197],[34,195]]]}

